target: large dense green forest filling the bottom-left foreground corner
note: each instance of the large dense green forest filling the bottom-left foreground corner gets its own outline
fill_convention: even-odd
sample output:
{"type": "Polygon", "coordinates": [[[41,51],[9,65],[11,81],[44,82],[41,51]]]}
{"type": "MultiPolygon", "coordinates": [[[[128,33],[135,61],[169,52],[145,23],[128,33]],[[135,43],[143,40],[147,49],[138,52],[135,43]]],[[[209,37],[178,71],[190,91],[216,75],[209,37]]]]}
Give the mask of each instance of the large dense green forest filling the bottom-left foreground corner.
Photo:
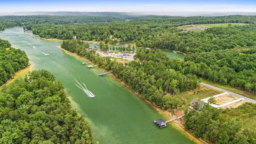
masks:
{"type": "Polygon", "coordinates": [[[46,70],[2,88],[0,121],[1,144],[94,144],[88,122],[46,70]]]}

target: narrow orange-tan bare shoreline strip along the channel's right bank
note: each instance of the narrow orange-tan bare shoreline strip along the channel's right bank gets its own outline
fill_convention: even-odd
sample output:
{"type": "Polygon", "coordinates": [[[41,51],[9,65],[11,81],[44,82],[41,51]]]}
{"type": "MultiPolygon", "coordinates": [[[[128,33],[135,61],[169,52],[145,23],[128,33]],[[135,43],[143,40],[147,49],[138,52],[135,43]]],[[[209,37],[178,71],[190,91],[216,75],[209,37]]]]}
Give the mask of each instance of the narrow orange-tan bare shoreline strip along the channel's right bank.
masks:
{"type": "MultiPolygon", "coordinates": [[[[64,52],[68,52],[68,53],[70,53],[70,54],[74,54],[74,55],[78,56],[78,54],[76,54],[76,53],[71,53],[71,52],[69,52],[68,50],[65,50],[64,48],[61,48],[60,46],[58,46],[58,48],[64,50],[64,52]]],[[[88,62],[91,62],[90,60],[88,60],[88,59],[86,59],[86,58],[84,58],[84,57],[81,57],[81,56],[78,56],[78,58],[82,58],[82,59],[84,59],[84,60],[86,60],[86,61],[88,61],[88,62]]],[[[93,63],[93,62],[92,62],[92,63],[93,63]]],[[[94,63],[93,63],[93,64],[94,64],[94,63]]],[[[98,67],[98,68],[99,68],[99,67],[98,67]]],[[[106,72],[105,69],[103,69],[103,68],[100,68],[100,69],[101,69],[101,70],[104,70],[104,71],[106,72]]],[[[168,111],[166,111],[166,110],[163,111],[161,108],[158,108],[158,107],[154,106],[154,105],[151,104],[148,100],[146,100],[145,98],[143,98],[140,94],[138,94],[137,92],[135,92],[134,90],[132,90],[132,88],[130,88],[129,86],[127,86],[127,85],[126,85],[124,82],[122,82],[120,79],[116,78],[116,77],[114,76],[114,74],[112,74],[111,72],[110,72],[110,74],[111,74],[111,76],[112,76],[114,79],[118,80],[118,82],[120,82],[122,85],[124,85],[124,86],[125,86],[126,88],[128,88],[129,90],[131,90],[136,96],[140,97],[140,98],[141,98],[142,100],[144,100],[146,103],[150,104],[150,106],[152,106],[154,109],[156,109],[156,110],[158,110],[158,111],[161,111],[161,112],[164,112],[168,118],[173,119],[172,114],[171,114],[170,112],[168,112],[168,111]]],[[[177,116],[175,116],[175,117],[177,117],[177,116]]],[[[179,119],[178,119],[178,120],[179,120],[179,119]]],[[[181,124],[181,122],[178,122],[178,120],[173,120],[173,122],[174,122],[173,124],[176,125],[177,127],[179,127],[180,130],[184,130],[184,132],[186,132],[189,136],[192,136],[192,137],[195,138],[196,140],[200,141],[202,144],[207,144],[207,142],[205,142],[204,140],[202,140],[202,139],[200,139],[200,138],[196,138],[192,133],[190,133],[189,131],[185,130],[183,124],[181,124]]]]}

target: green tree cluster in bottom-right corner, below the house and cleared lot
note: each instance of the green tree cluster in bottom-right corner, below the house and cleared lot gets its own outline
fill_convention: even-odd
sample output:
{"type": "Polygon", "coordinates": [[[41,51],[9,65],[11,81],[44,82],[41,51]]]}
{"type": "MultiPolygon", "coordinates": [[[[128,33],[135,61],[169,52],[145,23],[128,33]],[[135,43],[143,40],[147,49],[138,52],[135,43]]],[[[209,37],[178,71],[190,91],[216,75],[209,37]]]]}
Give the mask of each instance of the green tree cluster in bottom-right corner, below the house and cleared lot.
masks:
{"type": "MultiPolygon", "coordinates": [[[[243,107],[255,108],[256,104],[246,103],[243,107]]],[[[194,110],[186,111],[184,126],[197,138],[202,138],[206,142],[218,144],[256,144],[255,129],[242,129],[242,120],[230,118],[225,120],[226,111],[213,108],[209,104],[204,104],[202,110],[197,103],[194,110]]],[[[239,108],[238,108],[239,109],[239,108]]]]}

